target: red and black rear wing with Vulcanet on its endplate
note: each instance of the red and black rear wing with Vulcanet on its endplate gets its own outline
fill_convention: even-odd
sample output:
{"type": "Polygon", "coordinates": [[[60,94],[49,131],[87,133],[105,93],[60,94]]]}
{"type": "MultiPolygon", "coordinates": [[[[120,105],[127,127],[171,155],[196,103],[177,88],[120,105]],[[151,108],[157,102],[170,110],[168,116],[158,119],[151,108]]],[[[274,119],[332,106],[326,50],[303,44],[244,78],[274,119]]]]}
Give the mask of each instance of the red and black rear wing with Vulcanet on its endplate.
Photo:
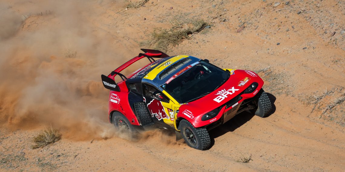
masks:
{"type": "Polygon", "coordinates": [[[167,54],[159,51],[159,50],[150,50],[150,49],[140,49],[144,53],[139,53],[138,56],[132,58],[128,62],[124,63],[120,67],[116,68],[114,71],[112,71],[108,76],[101,75],[103,86],[107,89],[114,90],[114,91],[120,91],[119,87],[117,86],[115,82],[115,76],[119,75],[122,80],[126,80],[126,76],[121,74],[120,72],[123,71],[125,68],[130,66],[131,64],[135,63],[136,61],[140,60],[141,58],[147,57],[148,60],[152,63],[155,61],[155,58],[165,58],[169,57],[167,54]],[[112,81],[111,81],[112,80],[112,81]]]}

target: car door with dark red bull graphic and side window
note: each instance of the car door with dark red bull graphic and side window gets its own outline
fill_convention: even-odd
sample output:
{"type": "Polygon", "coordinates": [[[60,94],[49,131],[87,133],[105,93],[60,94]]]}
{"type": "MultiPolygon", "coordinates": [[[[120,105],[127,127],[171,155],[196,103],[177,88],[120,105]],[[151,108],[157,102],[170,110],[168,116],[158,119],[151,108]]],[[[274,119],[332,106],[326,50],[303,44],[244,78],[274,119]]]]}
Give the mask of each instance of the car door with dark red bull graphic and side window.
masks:
{"type": "Polygon", "coordinates": [[[164,127],[174,127],[174,112],[171,109],[171,100],[150,84],[143,84],[142,90],[144,101],[153,121],[164,127]]]}

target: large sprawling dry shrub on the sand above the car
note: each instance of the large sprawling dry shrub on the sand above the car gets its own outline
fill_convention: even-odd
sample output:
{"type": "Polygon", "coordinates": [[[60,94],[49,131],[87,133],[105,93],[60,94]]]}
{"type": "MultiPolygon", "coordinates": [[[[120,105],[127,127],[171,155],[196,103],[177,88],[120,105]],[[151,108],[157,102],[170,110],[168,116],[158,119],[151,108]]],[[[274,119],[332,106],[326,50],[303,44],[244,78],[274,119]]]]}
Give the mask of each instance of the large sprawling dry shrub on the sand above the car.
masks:
{"type": "Polygon", "coordinates": [[[153,46],[155,49],[166,51],[169,46],[178,45],[189,35],[198,33],[208,25],[204,20],[190,21],[189,23],[171,22],[171,29],[155,30],[150,40],[140,43],[142,46],[153,46]]]}

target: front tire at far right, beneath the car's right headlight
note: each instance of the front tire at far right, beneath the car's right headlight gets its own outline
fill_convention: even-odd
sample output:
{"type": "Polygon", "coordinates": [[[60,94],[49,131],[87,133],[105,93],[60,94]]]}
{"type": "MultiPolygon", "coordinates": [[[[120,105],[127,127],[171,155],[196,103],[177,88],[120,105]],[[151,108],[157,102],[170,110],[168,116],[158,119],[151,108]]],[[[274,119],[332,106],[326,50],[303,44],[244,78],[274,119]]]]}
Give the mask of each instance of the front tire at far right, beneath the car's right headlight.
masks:
{"type": "Polygon", "coordinates": [[[272,110],[272,103],[266,92],[261,89],[258,93],[257,104],[258,108],[255,111],[255,115],[259,117],[265,117],[272,110]]]}

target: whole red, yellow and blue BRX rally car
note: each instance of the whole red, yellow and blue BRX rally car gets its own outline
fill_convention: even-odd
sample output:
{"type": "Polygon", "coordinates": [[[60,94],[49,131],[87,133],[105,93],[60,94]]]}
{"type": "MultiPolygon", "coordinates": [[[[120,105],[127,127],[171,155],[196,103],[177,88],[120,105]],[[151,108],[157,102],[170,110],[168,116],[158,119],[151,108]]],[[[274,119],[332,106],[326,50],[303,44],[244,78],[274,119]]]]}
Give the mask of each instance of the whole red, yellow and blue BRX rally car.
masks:
{"type": "Polygon", "coordinates": [[[101,75],[109,89],[109,121],[119,130],[137,132],[152,127],[172,129],[188,146],[205,150],[208,131],[249,110],[265,117],[272,109],[263,80],[254,72],[221,69],[188,55],[144,53],[101,75]],[[125,76],[120,72],[141,58],[146,66],[125,76]],[[115,76],[122,80],[115,82],[115,76]]]}

